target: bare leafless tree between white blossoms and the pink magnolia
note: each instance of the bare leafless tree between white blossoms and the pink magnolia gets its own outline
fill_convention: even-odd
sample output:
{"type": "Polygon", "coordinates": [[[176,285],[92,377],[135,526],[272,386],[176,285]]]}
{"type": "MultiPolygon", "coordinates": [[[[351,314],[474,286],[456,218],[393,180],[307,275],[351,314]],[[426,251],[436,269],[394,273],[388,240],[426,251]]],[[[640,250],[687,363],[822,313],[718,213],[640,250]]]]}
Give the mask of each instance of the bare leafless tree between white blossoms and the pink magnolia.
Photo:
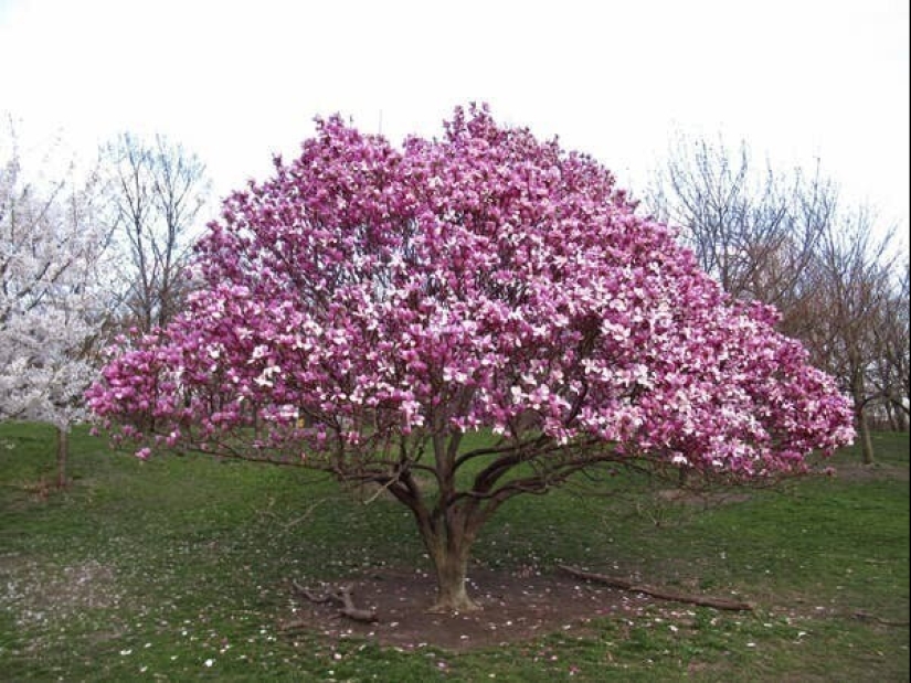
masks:
{"type": "Polygon", "coordinates": [[[128,263],[121,273],[129,323],[163,326],[180,311],[188,291],[187,258],[210,185],[205,166],[180,145],[129,134],[104,156],[113,173],[115,224],[128,263]]]}

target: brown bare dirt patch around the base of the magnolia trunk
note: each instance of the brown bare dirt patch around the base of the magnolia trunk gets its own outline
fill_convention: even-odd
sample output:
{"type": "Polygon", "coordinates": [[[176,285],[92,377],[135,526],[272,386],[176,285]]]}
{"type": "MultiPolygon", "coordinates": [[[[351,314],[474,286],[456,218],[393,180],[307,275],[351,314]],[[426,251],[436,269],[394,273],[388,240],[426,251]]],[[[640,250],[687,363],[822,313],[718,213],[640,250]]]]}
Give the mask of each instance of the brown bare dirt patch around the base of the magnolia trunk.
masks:
{"type": "Polygon", "coordinates": [[[483,609],[438,615],[427,611],[435,596],[434,579],[421,572],[382,570],[340,583],[353,587],[357,607],[375,610],[378,622],[352,621],[340,617],[336,607],[301,597],[295,598],[284,625],[293,622],[295,629],[331,639],[362,638],[404,650],[433,645],[464,651],[557,631],[581,634],[593,618],[638,615],[655,602],[569,575],[477,569],[469,579],[469,595],[483,609]]]}

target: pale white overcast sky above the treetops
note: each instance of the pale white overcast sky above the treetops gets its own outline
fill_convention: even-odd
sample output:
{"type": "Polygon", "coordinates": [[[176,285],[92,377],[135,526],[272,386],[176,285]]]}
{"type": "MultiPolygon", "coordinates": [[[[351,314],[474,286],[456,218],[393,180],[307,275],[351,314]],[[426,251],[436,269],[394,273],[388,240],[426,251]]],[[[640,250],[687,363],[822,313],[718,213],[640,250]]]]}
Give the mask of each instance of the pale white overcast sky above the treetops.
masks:
{"type": "Polygon", "coordinates": [[[909,52],[907,0],[0,0],[0,111],[89,152],[163,132],[219,194],[333,111],[398,143],[487,102],[634,192],[675,130],[720,132],[904,234],[909,52]]]}

